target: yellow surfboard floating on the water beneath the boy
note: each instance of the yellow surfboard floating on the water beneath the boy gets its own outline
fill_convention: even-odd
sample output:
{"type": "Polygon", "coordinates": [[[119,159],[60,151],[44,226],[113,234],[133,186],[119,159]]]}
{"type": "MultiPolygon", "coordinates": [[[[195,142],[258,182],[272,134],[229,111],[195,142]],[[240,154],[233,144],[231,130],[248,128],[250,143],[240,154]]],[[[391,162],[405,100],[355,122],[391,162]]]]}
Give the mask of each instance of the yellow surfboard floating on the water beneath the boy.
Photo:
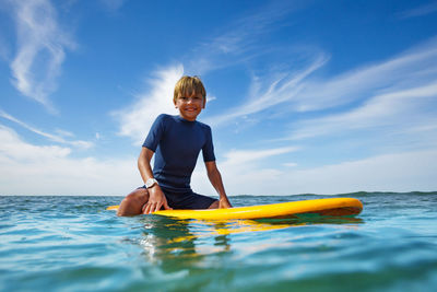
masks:
{"type": "MultiPolygon", "coordinates": [[[[118,206],[110,206],[106,210],[117,210],[118,206]]],[[[161,210],[153,214],[174,217],[179,219],[198,220],[234,220],[234,219],[269,219],[293,218],[298,214],[320,215],[356,215],[363,210],[363,203],[354,198],[329,198],[281,202],[229,209],[208,210],[161,210]]]]}

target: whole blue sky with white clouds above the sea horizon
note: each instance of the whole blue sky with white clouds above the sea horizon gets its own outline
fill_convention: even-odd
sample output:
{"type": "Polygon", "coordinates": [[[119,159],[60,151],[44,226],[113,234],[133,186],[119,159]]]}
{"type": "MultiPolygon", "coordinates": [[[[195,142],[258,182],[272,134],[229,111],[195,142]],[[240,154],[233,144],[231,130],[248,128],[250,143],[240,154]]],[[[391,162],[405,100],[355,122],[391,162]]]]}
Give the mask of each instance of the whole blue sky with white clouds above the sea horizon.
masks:
{"type": "MultiPolygon", "coordinates": [[[[200,75],[228,195],[437,189],[436,1],[0,1],[0,194],[126,195],[200,75]]],[[[213,195],[199,161],[198,192],[213,195]]]]}

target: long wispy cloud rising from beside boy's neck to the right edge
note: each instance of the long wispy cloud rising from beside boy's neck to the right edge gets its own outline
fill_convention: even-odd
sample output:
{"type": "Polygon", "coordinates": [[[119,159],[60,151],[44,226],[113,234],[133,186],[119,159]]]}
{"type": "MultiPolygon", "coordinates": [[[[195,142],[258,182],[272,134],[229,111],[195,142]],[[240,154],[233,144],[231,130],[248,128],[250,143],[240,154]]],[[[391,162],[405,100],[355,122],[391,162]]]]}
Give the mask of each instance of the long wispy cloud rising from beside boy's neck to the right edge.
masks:
{"type": "Polygon", "coordinates": [[[271,77],[255,77],[241,105],[210,117],[208,122],[228,124],[253,114],[262,115],[269,108],[277,114],[340,108],[383,92],[422,86],[437,78],[437,39],[379,63],[328,79],[316,77],[317,70],[328,60],[328,56],[319,51],[307,56],[308,65],[300,69],[288,68],[271,77]]]}

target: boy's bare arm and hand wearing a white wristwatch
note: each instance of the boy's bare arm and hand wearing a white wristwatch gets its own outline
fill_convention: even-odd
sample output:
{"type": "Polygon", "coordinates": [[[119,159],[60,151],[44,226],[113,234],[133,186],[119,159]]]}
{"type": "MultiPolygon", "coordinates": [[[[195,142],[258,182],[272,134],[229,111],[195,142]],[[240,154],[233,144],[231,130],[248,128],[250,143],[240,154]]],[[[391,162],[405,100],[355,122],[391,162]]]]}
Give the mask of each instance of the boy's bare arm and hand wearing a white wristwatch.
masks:
{"type": "MultiPolygon", "coordinates": [[[[138,168],[140,170],[140,174],[144,183],[147,182],[149,178],[153,177],[152,167],[150,165],[153,154],[154,152],[152,150],[143,147],[140,156],[138,157],[138,168]]],[[[172,209],[168,207],[167,199],[157,184],[147,188],[147,191],[149,201],[143,206],[144,214],[158,211],[163,206],[167,210],[172,209]]]]}

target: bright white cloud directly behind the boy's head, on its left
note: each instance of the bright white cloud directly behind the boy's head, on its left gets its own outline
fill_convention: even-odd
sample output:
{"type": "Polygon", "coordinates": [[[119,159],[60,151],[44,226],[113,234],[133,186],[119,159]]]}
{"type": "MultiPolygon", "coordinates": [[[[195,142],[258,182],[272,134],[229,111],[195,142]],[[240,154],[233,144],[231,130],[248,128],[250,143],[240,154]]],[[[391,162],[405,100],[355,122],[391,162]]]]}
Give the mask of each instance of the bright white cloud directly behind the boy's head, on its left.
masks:
{"type": "Polygon", "coordinates": [[[160,114],[176,114],[173,94],[182,74],[181,65],[155,72],[155,78],[147,82],[150,89],[145,93],[135,96],[131,105],[113,113],[120,122],[119,135],[130,137],[135,144],[140,144],[160,114]]]}

